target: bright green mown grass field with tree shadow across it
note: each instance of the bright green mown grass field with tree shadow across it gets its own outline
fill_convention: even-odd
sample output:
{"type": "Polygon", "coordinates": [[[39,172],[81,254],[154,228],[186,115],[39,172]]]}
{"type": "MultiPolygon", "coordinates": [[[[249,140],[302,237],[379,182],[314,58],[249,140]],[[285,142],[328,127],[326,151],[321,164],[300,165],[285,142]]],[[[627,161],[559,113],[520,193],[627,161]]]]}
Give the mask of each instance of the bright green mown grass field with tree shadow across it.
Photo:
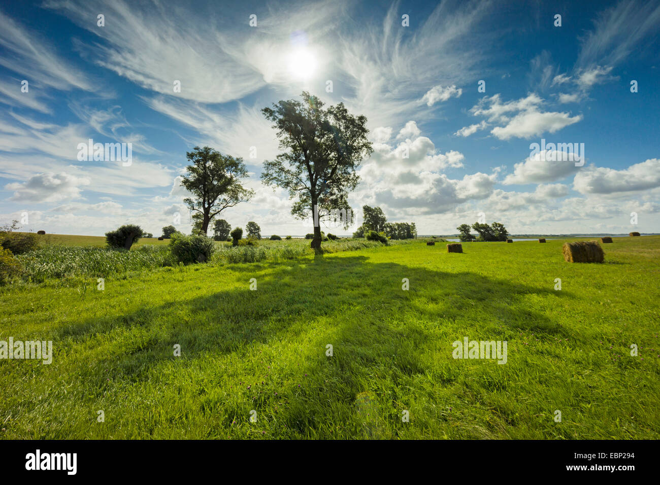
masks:
{"type": "Polygon", "coordinates": [[[52,364],[0,360],[0,437],[657,439],[660,236],[601,265],[563,242],[0,288],[0,340],[53,340],[52,364]],[[455,360],[465,337],[506,340],[507,363],[455,360]]]}

